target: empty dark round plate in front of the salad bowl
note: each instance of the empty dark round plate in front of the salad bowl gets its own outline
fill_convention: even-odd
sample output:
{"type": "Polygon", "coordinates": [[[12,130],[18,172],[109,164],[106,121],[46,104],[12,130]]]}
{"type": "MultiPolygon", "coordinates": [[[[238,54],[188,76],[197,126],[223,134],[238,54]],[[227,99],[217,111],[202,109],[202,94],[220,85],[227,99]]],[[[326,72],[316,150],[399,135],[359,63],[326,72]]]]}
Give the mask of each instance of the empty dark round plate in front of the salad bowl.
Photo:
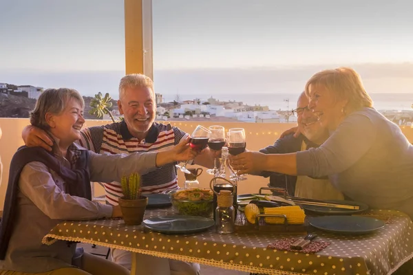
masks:
{"type": "Polygon", "coordinates": [[[215,225],[215,221],[204,217],[171,215],[145,219],[142,225],[165,234],[191,234],[208,230],[215,225]]]}

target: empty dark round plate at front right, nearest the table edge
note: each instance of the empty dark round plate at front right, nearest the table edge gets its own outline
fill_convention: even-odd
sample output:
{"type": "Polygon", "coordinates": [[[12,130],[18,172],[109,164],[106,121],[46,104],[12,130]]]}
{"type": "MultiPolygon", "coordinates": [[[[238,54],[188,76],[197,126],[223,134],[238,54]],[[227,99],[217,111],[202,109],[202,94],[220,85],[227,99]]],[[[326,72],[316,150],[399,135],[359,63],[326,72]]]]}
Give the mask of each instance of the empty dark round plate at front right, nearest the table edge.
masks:
{"type": "Polygon", "coordinates": [[[339,234],[368,234],[385,225],[379,219],[361,216],[308,217],[308,223],[319,230],[339,234]]]}

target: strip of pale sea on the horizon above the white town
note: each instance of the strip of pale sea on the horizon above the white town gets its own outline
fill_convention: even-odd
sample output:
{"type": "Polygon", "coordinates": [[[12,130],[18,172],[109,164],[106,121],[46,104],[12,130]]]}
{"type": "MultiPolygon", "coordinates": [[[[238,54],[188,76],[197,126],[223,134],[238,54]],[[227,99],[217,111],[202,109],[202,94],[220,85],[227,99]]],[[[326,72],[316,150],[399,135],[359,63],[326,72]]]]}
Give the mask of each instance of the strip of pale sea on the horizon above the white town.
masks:
{"type": "MultiPolygon", "coordinates": [[[[171,102],[176,100],[177,95],[164,94],[164,102],[171,102]]],[[[193,100],[200,98],[200,100],[207,100],[208,98],[215,98],[220,101],[235,100],[243,102],[248,105],[260,104],[270,107],[271,110],[290,110],[295,109],[297,98],[299,94],[287,93],[251,93],[251,94],[179,94],[179,99],[193,100]]],[[[370,96],[374,102],[374,108],[377,110],[394,110],[403,111],[412,109],[413,92],[412,93],[371,93],[370,96]]]]}

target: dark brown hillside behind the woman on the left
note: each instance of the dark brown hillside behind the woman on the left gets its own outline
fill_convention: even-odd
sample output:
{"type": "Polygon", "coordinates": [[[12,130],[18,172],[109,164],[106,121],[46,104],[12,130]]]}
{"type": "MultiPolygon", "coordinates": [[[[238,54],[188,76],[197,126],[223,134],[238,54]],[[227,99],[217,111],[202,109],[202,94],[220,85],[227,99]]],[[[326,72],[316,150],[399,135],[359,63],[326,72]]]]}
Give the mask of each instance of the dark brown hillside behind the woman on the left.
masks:
{"type": "MultiPolygon", "coordinates": [[[[89,104],[92,97],[83,96],[83,100],[85,100],[85,118],[96,120],[97,118],[94,115],[89,114],[89,104]]],[[[111,109],[117,109],[118,104],[116,100],[112,100],[112,102],[113,106],[111,109]]],[[[0,94],[0,118],[28,118],[35,104],[36,100],[32,98],[0,94]]]]}

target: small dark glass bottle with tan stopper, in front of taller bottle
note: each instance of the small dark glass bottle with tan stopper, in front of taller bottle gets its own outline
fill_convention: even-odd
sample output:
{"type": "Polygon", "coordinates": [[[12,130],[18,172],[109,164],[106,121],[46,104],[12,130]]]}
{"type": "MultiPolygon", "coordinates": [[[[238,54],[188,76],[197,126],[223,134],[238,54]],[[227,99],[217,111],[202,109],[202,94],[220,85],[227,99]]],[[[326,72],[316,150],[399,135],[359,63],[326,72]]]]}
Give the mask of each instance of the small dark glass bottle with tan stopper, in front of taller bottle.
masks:
{"type": "Polygon", "coordinates": [[[233,194],[230,190],[221,190],[218,195],[218,206],[215,209],[215,226],[217,233],[231,234],[235,227],[235,209],[233,194]]]}

